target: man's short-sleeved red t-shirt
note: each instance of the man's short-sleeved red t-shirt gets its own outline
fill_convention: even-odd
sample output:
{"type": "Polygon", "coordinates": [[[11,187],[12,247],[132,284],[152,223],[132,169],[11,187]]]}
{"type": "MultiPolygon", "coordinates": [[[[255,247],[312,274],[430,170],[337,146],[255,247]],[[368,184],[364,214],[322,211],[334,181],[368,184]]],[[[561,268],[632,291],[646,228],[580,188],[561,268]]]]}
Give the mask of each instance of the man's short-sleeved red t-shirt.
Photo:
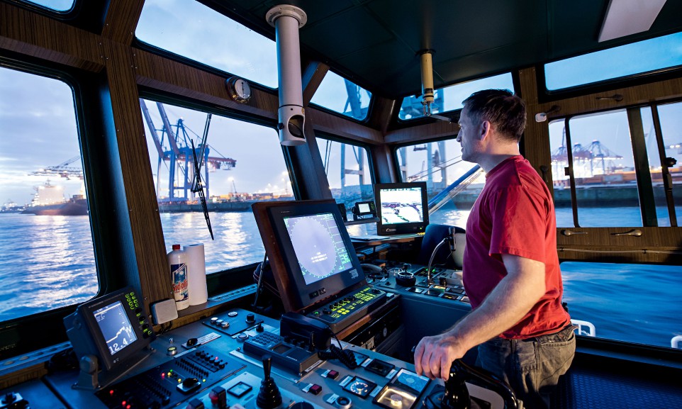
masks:
{"type": "Polygon", "coordinates": [[[549,334],[570,323],[561,306],[557,221],[549,189],[522,156],[505,159],[486,175],[486,186],[466,222],[463,279],[471,307],[483,303],[507,275],[501,254],[544,263],[544,296],[518,323],[502,333],[508,339],[549,334]]]}

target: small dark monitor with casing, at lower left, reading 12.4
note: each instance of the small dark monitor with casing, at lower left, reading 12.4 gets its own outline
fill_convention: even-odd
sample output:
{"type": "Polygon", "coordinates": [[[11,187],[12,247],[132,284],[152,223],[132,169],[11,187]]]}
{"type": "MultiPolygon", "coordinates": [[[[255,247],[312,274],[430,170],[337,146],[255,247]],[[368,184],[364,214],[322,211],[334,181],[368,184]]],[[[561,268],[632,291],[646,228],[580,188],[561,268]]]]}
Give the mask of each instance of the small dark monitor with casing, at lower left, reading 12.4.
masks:
{"type": "Polygon", "coordinates": [[[137,361],[135,354],[155,338],[131,287],[82,303],[64,324],[77,357],[95,355],[107,370],[137,361]]]}

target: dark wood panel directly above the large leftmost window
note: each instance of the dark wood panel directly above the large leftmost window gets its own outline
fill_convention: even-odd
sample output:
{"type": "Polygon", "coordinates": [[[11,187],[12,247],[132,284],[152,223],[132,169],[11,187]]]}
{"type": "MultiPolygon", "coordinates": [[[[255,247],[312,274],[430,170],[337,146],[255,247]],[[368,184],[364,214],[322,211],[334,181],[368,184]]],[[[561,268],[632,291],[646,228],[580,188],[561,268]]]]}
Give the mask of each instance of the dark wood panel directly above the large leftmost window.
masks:
{"type": "Polygon", "coordinates": [[[93,72],[104,68],[99,35],[0,3],[0,48],[93,72]]]}

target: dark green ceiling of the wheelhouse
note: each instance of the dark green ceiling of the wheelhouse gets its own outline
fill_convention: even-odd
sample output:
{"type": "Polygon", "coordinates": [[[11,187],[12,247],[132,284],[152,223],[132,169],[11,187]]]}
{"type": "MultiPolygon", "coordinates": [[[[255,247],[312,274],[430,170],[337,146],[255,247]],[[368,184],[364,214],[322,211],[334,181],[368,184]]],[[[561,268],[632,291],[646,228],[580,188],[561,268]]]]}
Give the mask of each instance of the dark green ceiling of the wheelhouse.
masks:
{"type": "MultiPolygon", "coordinates": [[[[283,3],[199,0],[274,38],[265,13],[283,3]]],[[[538,65],[682,31],[682,1],[668,0],[652,29],[598,43],[609,0],[295,0],[308,15],[304,55],[388,97],[420,91],[418,51],[435,50],[435,84],[538,65]]],[[[643,0],[644,1],[644,0],[643,0]]]]}

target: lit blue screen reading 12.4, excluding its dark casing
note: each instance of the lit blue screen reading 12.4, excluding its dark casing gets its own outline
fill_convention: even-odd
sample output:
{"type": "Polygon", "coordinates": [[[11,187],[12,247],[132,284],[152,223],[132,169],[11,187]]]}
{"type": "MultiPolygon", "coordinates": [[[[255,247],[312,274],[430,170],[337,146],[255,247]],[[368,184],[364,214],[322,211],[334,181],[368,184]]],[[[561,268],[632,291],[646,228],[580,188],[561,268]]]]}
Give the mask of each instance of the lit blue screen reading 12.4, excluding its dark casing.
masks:
{"type": "Polygon", "coordinates": [[[116,354],[138,340],[121,301],[94,310],[93,315],[110,354],[116,354]]]}

